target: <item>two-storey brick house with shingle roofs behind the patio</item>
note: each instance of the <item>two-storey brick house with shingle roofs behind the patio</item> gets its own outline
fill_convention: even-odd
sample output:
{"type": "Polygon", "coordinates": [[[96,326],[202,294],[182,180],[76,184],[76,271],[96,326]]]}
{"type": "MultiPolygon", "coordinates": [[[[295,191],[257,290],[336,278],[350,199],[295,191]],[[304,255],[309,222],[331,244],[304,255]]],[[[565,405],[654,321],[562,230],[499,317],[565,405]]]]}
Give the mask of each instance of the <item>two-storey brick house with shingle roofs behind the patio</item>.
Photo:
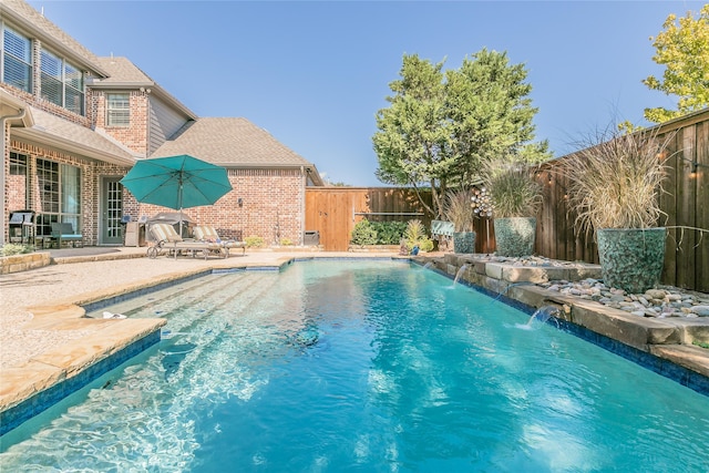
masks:
{"type": "Polygon", "coordinates": [[[126,58],[99,58],[22,0],[0,3],[2,232],[35,213],[34,233],[66,222],[85,245],[120,245],[122,218],[165,210],[138,204],[120,179],[141,158],[189,154],[222,165],[234,187],[194,220],[267,244],[302,243],[317,168],[246,119],[198,117],[126,58]]]}

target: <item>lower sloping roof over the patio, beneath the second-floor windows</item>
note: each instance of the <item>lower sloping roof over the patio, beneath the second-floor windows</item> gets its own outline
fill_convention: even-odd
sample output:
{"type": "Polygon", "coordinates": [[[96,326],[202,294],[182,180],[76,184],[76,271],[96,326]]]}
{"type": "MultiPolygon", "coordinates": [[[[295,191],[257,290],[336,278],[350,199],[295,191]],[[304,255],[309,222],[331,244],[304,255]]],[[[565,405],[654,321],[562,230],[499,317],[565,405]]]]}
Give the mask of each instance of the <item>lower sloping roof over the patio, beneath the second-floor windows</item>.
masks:
{"type": "Polygon", "coordinates": [[[12,135],[16,137],[123,166],[132,166],[138,157],[106,134],[33,106],[27,109],[33,119],[33,125],[13,127],[12,135]]]}

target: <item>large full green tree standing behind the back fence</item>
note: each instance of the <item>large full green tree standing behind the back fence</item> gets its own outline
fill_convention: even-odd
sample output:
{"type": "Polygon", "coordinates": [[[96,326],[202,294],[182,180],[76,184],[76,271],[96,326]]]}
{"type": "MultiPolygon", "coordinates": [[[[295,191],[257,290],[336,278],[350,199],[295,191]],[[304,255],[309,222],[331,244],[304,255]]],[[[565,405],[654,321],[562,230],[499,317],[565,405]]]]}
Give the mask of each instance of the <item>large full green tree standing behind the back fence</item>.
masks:
{"type": "Polygon", "coordinates": [[[441,218],[448,189],[479,182],[483,160],[548,158],[546,142],[532,143],[537,109],[526,75],[523,64],[486,49],[445,73],[443,62],[404,55],[400,79],[389,84],[391,105],[377,113],[378,178],[417,191],[430,186],[432,206],[421,204],[441,218]]]}

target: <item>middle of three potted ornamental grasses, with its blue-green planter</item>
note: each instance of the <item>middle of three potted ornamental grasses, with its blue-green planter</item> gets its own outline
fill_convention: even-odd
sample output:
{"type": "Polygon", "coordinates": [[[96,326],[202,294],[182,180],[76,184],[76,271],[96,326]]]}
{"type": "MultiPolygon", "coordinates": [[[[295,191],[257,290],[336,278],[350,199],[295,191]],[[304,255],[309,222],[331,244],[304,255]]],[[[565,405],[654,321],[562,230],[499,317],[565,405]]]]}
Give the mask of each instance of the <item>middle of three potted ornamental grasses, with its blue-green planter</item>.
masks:
{"type": "Polygon", "coordinates": [[[483,164],[483,182],[493,206],[495,253],[511,257],[534,254],[542,186],[532,168],[523,162],[490,160],[483,164]]]}

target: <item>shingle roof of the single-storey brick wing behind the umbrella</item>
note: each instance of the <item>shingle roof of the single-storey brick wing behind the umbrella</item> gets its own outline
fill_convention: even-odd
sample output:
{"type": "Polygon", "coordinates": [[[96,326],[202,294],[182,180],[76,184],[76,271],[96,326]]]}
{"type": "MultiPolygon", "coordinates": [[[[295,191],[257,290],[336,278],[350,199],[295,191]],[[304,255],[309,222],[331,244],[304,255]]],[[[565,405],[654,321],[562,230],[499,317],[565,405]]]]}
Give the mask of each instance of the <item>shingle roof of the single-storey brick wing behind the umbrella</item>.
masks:
{"type": "Polygon", "coordinates": [[[314,167],[267,131],[243,117],[189,122],[151,157],[189,154],[225,167],[314,167]]]}

